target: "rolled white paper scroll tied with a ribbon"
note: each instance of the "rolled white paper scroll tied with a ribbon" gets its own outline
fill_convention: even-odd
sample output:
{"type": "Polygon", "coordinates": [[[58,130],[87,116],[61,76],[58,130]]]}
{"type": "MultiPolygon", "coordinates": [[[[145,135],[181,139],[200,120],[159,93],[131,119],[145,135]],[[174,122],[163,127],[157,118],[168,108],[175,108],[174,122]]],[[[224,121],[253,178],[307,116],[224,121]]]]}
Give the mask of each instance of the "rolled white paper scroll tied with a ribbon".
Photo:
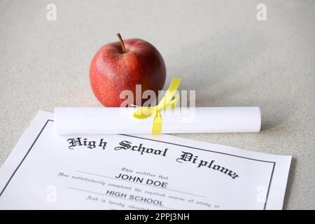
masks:
{"type": "MultiPolygon", "coordinates": [[[[153,116],[133,117],[137,108],[55,108],[56,134],[151,134],[153,116]]],[[[160,111],[162,134],[260,132],[257,106],[192,107],[160,111]]]]}

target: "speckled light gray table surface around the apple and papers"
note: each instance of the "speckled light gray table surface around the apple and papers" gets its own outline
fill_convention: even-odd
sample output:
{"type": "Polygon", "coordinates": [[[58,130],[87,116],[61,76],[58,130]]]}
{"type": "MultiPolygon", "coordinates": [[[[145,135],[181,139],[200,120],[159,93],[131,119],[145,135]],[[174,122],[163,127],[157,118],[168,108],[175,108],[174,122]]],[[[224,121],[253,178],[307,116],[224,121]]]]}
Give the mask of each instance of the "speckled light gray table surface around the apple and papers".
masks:
{"type": "Polygon", "coordinates": [[[153,43],[196,106],[260,106],[260,133],[177,135],[293,155],[283,208],[315,209],[315,1],[0,0],[0,165],[38,110],[100,106],[90,61],[118,31],[153,43]]]}

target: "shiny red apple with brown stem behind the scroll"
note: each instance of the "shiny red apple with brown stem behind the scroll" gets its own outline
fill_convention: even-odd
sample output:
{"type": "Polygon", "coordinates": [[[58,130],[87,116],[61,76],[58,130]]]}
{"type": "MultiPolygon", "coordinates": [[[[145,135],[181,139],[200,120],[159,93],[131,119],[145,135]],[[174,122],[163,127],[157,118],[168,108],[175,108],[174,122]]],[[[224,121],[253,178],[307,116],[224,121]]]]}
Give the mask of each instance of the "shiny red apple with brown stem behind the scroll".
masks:
{"type": "MultiPolygon", "coordinates": [[[[131,90],[136,104],[136,85],[142,92],[153,90],[158,96],[165,78],[165,62],[160,52],[139,38],[108,43],[100,48],[90,64],[90,84],[95,96],[104,106],[120,106],[120,92],[131,90]]],[[[143,104],[147,99],[141,100],[143,104]]],[[[141,105],[139,105],[141,106],[141,105]]]]}

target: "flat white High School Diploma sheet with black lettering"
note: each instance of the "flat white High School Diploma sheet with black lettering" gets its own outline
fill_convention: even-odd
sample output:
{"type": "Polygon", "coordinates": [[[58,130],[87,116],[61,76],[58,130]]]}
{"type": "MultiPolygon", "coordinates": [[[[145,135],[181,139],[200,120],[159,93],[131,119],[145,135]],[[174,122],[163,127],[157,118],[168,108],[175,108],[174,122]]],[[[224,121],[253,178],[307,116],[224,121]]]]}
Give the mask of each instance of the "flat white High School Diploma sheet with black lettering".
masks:
{"type": "Polygon", "coordinates": [[[0,169],[0,209],[282,209],[291,156],[170,135],[57,135],[39,111],[0,169]]]}

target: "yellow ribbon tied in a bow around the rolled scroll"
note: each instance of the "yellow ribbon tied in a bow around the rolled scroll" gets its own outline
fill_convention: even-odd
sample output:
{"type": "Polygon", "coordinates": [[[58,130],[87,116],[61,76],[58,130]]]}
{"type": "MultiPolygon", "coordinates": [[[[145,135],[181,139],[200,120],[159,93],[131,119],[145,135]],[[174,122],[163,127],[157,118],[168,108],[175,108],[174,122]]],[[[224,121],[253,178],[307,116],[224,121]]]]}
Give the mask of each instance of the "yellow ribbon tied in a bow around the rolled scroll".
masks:
{"type": "Polygon", "coordinates": [[[169,88],[165,93],[164,97],[161,99],[158,105],[156,106],[137,106],[139,110],[134,112],[134,118],[145,119],[152,115],[153,125],[152,125],[152,134],[161,134],[162,131],[162,116],[160,110],[165,109],[174,109],[177,102],[179,102],[179,94],[176,93],[176,90],[179,88],[181,83],[181,78],[173,78],[169,88]]]}

